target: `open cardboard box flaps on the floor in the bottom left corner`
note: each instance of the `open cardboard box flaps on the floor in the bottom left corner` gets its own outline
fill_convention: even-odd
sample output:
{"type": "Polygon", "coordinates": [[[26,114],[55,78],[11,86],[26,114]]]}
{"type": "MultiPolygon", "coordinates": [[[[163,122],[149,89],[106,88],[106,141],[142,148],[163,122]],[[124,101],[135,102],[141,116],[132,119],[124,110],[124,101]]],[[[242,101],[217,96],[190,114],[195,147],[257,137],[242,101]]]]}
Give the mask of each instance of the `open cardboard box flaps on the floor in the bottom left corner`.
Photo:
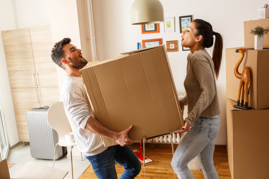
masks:
{"type": "MultiPolygon", "coordinates": [[[[14,174],[12,179],[62,179],[67,173],[64,170],[28,161],[14,174]]],[[[10,179],[7,159],[0,161],[0,179],[10,179]]]]}

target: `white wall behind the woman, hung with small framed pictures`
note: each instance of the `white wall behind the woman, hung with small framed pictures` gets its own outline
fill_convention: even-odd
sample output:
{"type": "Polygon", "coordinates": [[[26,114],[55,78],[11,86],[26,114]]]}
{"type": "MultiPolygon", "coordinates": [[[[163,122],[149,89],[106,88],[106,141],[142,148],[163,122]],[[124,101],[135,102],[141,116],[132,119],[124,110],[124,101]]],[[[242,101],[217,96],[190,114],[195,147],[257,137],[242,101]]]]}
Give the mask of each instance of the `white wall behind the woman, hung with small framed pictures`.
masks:
{"type": "MultiPolygon", "coordinates": [[[[193,15],[210,22],[215,32],[224,37],[223,61],[217,82],[221,108],[221,130],[215,139],[216,144],[226,144],[226,72],[225,48],[244,46],[244,21],[258,19],[257,9],[266,4],[265,0],[215,1],[215,0],[160,0],[164,16],[175,17],[175,33],[164,33],[163,23],[160,33],[141,34],[140,25],[131,25],[130,10],[134,0],[93,0],[97,57],[102,61],[120,53],[135,50],[136,43],[143,39],[162,38],[163,43],[178,40],[178,52],[169,52],[168,57],[178,94],[184,93],[183,82],[186,75],[187,54],[182,51],[179,16],[193,15]]],[[[207,49],[212,55],[213,48],[207,49]]]]}

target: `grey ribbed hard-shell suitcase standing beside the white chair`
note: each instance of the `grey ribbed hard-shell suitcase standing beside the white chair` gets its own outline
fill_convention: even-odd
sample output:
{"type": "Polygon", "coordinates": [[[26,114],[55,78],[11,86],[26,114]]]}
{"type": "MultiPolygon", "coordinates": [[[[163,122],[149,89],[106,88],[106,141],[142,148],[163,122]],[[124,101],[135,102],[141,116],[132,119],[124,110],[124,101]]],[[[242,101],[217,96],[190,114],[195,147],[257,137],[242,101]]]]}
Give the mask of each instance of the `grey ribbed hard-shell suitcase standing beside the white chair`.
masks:
{"type": "MultiPolygon", "coordinates": [[[[26,113],[30,153],[33,158],[53,160],[55,145],[58,142],[56,130],[48,125],[47,113],[49,107],[34,108],[26,113]]],[[[55,160],[67,153],[66,147],[58,146],[55,160]]]]}

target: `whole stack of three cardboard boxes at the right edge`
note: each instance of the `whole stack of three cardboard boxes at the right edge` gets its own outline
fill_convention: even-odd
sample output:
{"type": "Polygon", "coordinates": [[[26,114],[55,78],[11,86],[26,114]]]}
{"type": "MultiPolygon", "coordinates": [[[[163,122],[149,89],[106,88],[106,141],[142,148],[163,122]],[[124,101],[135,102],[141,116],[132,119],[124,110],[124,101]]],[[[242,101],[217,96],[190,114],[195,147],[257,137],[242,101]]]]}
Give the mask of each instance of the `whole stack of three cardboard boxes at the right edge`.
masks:
{"type": "Polygon", "coordinates": [[[257,25],[269,27],[269,19],[244,22],[245,47],[242,48],[246,51],[238,69],[242,73],[244,67],[250,68],[248,106],[253,109],[233,107],[240,81],[234,75],[234,68],[242,54],[235,52],[240,47],[226,49],[227,155],[232,179],[268,178],[269,49],[266,48],[269,48],[269,36],[264,38],[263,50],[254,50],[254,37],[249,32],[257,25]]]}

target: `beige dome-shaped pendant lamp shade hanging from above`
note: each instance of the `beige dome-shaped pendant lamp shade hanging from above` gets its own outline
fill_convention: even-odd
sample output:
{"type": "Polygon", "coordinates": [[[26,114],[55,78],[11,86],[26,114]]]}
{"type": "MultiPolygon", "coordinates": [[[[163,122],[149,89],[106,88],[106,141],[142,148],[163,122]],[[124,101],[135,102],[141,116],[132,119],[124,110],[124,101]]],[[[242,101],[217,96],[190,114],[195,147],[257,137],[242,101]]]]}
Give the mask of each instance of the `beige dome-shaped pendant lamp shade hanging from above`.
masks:
{"type": "Polygon", "coordinates": [[[132,24],[155,24],[163,21],[163,6],[159,0],[135,0],[131,8],[132,24]]]}

